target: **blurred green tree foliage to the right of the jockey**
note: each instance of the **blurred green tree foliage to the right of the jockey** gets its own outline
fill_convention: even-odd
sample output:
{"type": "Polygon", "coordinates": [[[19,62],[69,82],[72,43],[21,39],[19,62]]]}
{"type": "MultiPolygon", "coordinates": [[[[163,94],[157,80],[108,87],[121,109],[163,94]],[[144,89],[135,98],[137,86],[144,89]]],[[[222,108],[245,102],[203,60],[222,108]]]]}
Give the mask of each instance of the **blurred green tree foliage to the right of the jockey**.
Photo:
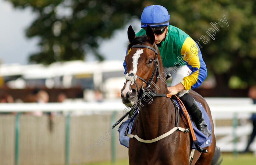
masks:
{"type": "Polygon", "coordinates": [[[170,24],[195,41],[203,35],[208,37],[207,43],[203,43],[203,38],[198,43],[208,75],[215,76],[216,87],[223,96],[228,95],[229,87],[246,88],[256,83],[256,1],[177,0],[166,1],[165,6],[171,16],[170,24]],[[228,25],[220,21],[225,19],[223,15],[228,25]],[[222,27],[215,24],[217,21],[222,27]],[[211,37],[207,31],[215,35],[211,37]]]}

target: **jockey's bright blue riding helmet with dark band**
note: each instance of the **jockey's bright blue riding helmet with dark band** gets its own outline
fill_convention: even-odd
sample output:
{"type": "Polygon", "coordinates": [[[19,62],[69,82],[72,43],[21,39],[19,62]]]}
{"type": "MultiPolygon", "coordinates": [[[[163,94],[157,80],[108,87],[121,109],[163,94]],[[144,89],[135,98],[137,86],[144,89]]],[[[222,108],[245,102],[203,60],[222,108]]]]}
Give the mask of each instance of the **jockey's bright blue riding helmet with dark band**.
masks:
{"type": "Polygon", "coordinates": [[[160,5],[151,5],[144,8],[140,21],[141,28],[145,29],[147,24],[153,28],[153,30],[162,29],[169,25],[170,15],[165,7],[160,5]]]}

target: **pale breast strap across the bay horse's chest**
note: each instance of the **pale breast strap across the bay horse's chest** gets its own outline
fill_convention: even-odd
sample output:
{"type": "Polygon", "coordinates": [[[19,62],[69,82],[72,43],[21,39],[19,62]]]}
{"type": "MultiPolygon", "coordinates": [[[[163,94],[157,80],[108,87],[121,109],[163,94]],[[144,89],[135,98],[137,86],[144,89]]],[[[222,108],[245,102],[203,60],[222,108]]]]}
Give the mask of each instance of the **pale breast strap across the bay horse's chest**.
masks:
{"type": "Polygon", "coordinates": [[[138,135],[132,135],[132,134],[127,134],[127,136],[129,138],[135,138],[137,139],[139,142],[144,142],[144,143],[153,143],[153,142],[156,142],[158,140],[161,140],[169,135],[171,135],[173,132],[175,132],[176,130],[179,130],[179,131],[182,131],[182,132],[189,132],[189,128],[185,129],[185,128],[181,128],[181,127],[174,127],[172,128],[169,132],[166,132],[165,134],[161,135],[161,136],[158,136],[157,138],[155,139],[152,139],[152,140],[144,140],[144,139],[141,139],[139,138],[138,135]]]}

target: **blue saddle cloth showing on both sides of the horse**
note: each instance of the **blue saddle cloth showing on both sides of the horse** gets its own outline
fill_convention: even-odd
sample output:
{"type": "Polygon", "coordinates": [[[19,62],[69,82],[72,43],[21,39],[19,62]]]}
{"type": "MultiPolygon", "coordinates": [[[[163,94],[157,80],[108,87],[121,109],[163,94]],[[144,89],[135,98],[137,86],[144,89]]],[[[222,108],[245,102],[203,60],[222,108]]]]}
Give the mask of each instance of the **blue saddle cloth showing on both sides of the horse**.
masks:
{"type": "MultiPolygon", "coordinates": [[[[174,101],[176,102],[176,104],[180,108],[180,104],[178,103],[178,101],[177,100],[174,100],[174,101]]],[[[208,114],[206,113],[206,111],[204,110],[204,107],[200,103],[197,102],[197,105],[200,107],[200,109],[202,111],[202,114],[203,114],[203,117],[204,117],[204,121],[208,125],[208,129],[210,130],[210,132],[212,132],[212,125],[211,125],[211,121],[210,121],[210,118],[209,118],[208,114]]],[[[182,114],[184,115],[183,112],[182,112],[182,114]]],[[[128,133],[127,134],[131,133],[133,124],[135,122],[134,119],[136,118],[137,115],[138,115],[138,111],[133,115],[133,117],[131,119],[127,119],[126,121],[124,121],[119,126],[119,129],[118,129],[120,144],[123,145],[123,146],[126,146],[127,148],[129,148],[129,140],[130,140],[130,138],[128,136],[126,136],[125,130],[126,130],[126,128],[128,128],[128,133]]],[[[190,117],[190,120],[191,120],[191,117],[190,117]]],[[[193,122],[191,122],[191,123],[192,123],[192,126],[194,128],[194,132],[195,132],[195,135],[196,135],[196,138],[197,138],[198,146],[200,146],[202,148],[210,146],[211,143],[212,143],[212,135],[207,137],[206,135],[204,135],[201,131],[199,131],[196,128],[196,126],[194,125],[193,122]]],[[[192,149],[196,149],[194,143],[192,145],[192,149]]]]}

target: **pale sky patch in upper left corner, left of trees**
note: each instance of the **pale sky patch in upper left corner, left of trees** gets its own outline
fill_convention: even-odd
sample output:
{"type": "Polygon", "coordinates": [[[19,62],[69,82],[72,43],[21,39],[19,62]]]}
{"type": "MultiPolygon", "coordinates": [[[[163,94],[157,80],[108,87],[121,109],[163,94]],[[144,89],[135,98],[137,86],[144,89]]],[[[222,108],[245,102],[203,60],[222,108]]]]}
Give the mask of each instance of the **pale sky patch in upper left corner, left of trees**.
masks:
{"type": "Polygon", "coordinates": [[[2,64],[27,64],[28,54],[37,51],[37,39],[27,39],[25,29],[34,19],[30,9],[13,9],[0,0],[0,60],[2,64]]]}

